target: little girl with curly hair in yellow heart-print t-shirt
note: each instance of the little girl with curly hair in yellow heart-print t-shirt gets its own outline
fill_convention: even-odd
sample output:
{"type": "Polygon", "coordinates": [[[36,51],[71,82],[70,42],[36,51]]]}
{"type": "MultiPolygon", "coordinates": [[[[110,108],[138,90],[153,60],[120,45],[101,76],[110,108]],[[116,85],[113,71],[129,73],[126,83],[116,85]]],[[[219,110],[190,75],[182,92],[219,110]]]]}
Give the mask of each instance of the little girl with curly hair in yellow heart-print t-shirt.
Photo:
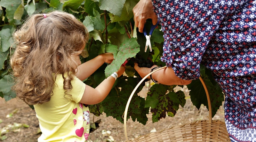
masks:
{"type": "Polygon", "coordinates": [[[62,11],[32,15],[13,34],[13,90],[35,107],[42,131],[38,142],[86,141],[90,129],[87,105],[103,101],[124,73],[122,66],[95,89],[82,82],[114,59],[112,53],[104,53],[81,64],[79,56],[88,36],[79,20],[62,11]]]}

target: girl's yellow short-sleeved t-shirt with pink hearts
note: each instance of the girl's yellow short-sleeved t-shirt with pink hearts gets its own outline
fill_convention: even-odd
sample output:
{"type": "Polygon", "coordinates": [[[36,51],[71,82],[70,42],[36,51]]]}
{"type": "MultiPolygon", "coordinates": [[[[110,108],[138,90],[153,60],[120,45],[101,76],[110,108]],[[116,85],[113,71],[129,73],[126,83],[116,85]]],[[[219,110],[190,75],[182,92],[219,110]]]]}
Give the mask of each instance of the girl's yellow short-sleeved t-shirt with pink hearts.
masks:
{"type": "Polygon", "coordinates": [[[42,135],[38,142],[84,142],[90,131],[89,108],[79,103],[85,84],[78,78],[71,81],[72,90],[65,95],[62,75],[58,75],[51,100],[34,105],[42,135]]]}

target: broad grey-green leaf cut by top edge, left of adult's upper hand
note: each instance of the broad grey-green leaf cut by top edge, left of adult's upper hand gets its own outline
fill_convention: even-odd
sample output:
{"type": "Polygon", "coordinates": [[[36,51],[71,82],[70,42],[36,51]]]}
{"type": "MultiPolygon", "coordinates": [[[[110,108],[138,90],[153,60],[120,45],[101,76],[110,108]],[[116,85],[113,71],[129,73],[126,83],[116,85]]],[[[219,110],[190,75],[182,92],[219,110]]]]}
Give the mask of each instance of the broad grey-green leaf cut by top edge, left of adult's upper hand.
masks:
{"type": "Polygon", "coordinates": [[[114,15],[121,16],[125,0],[99,0],[99,2],[101,10],[107,10],[114,15]]]}

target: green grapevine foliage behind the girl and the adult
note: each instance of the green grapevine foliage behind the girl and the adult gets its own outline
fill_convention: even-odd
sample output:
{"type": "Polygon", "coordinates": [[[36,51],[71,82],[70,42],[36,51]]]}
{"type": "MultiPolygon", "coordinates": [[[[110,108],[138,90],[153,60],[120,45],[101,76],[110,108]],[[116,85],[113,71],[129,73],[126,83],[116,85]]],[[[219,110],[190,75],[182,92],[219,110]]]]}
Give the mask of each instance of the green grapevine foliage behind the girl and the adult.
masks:
{"type": "MultiPolygon", "coordinates": [[[[155,29],[151,36],[153,52],[144,52],[146,38],[144,34],[137,32],[134,27],[132,8],[139,0],[1,0],[0,1],[0,96],[6,101],[15,98],[12,92],[12,76],[9,65],[10,47],[12,45],[12,33],[34,13],[47,13],[60,10],[73,14],[83,22],[90,32],[90,40],[85,47],[82,62],[86,62],[104,52],[114,54],[115,60],[111,64],[104,64],[84,83],[96,87],[112,72],[119,69],[127,58],[135,57],[136,54],[144,59],[150,58],[158,66],[165,66],[160,61],[163,53],[163,33],[161,26],[155,29]]],[[[43,15],[42,15],[43,16],[43,15]]],[[[146,27],[151,26],[150,19],[146,27]]],[[[46,25],[47,28],[47,25],[46,25]]],[[[108,97],[97,105],[90,105],[91,113],[99,116],[105,112],[107,116],[113,116],[120,122],[124,122],[122,116],[130,94],[138,83],[138,73],[133,69],[133,60],[126,64],[126,76],[116,80],[108,97]]],[[[210,92],[212,103],[212,116],[224,100],[219,85],[213,80],[211,71],[204,66],[200,69],[201,75],[210,92]]],[[[157,122],[161,118],[175,116],[179,105],[185,104],[185,96],[181,91],[174,92],[175,86],[154,84],[147,95],[141,98],[137,95],[142,85],[136,90],[128,116],[133,121],[137,120],[142,124],[148,121],[146,114],[152,112],[152,121],[157,122]]],[[[204,104],[208,108],[204,88],[199,80],[194,80],[188,85],[190,97],[193,104],[200,108],[204,104]]],[[[129,117],[128,117],[129,118],[129,117]]]]}

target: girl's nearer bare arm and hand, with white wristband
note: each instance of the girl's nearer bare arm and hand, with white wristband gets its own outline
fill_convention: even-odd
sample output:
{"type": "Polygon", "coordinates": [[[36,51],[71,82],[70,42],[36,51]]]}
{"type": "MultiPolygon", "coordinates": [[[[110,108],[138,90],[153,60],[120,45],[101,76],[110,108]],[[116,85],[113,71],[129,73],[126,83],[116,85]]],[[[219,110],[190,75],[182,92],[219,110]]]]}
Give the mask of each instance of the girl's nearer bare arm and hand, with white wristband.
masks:
{"type": "MultiPolygon", "coordinates": [[[[121,66],[120,69],[116,71],[118,77],[120,77],[124,71],[125,67],[121,66]]],[[[80,102],[88,105],[100,103],[107,97],[115,81],[116,79],[114,77],[109,76],[103,80],[95,89],[86,85],[84,95],[80,102]]]]}

